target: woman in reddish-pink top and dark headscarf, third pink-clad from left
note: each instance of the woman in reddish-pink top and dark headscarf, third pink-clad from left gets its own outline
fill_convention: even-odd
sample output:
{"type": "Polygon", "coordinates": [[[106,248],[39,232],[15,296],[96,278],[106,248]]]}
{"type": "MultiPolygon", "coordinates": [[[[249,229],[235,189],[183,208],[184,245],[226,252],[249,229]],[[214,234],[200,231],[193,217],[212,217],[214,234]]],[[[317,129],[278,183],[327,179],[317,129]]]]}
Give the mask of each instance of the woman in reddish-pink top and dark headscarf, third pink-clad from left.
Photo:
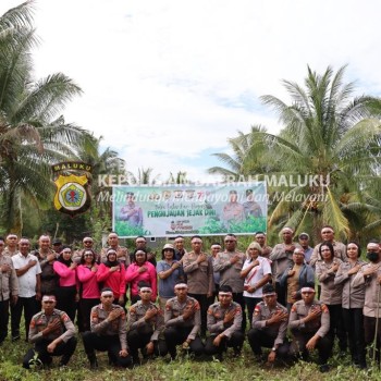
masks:
{"type": "Polygon", "coordinates": [[[106,254],[105,263],[100,263],[97,271],[97,281],[103,287],[112,290],[114,303],[124,307],[125,295],[125,267],[116,258],[116,250],[109,248],[106,254]]]}

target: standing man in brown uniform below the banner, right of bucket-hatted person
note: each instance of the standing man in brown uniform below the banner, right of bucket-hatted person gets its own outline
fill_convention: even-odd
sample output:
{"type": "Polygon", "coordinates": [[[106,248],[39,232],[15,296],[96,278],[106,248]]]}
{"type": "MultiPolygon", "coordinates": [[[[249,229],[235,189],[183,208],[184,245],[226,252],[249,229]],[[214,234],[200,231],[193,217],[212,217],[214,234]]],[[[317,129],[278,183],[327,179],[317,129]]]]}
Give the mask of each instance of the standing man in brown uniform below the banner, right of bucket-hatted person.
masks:
{"type": "Polygon", "coordinates": [[[209,298],[213,295],[212,259],[202,249],[202,239],[195,235],[190,239],[192,251],[183,257],[183,269],[187,278],[188,295],[194,297],[201,308],[201,336],[207,333],[207,311],[209,298]]]}

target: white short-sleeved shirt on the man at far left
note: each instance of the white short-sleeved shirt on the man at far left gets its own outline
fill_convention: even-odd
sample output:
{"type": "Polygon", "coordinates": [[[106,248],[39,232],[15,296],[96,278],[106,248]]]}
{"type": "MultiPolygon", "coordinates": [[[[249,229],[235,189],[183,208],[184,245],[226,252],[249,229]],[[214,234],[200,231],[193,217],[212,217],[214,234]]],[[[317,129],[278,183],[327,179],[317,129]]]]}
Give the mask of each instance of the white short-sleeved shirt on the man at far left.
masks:
{"type": "Polygon", "coordinates": [[[13,267],[15,270],[19,270],[25,267],[29,260],[35,260],[37,263],[29,268],[24,275],[19,276],[19,296],[20,297],[33,297],[36,295],[36,284],[37,284],[37,274],[41,273],[41,267],[39,266],[38,259],[36,256],[28,254],[24,257],[21,253],[12,257],[13,267]]]}

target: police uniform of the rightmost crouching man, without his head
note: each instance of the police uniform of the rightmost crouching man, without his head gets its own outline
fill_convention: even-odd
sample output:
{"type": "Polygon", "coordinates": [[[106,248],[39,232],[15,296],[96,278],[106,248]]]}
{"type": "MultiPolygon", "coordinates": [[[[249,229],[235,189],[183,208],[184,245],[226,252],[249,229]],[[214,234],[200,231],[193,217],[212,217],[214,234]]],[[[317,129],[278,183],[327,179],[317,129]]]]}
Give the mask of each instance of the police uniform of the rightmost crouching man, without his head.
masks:
{"type": "Polygon", "coordinates": [[[317,342],[320,365],[325,365],[332,352],[332,341],[328,335],[330,330],[330,312],[328,307],[320,300],[314,300],[311,305],[306,305],[304,300],[294,303],[291,308],[288,328],[293,334],[290,354],[298,356],[302,353],[304,358],[308,357],[306,344],[314,336],[320,339],[317,342]],[[312,309],[319,309],[321,315],[308,322],[302,321],[312,309]]]}

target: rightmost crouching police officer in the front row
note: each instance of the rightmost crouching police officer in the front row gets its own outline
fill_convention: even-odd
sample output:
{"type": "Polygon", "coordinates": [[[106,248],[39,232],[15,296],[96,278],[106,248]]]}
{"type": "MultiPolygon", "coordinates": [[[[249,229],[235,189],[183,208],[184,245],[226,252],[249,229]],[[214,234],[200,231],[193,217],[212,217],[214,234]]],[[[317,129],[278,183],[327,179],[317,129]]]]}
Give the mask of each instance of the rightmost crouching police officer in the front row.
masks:
{"type": "Polygon", "coordinates": [[[332,341],[328,335],[330,312],[322,302],[315,299],[314,288],[302,288],[302,300],[291,308],[288,328],[293,334],[290,354],[294,357],[302,354],[307,359],[308,352],[317,348],[320,371],[328,371],[327,361],[332,352],[332,341]]]}

